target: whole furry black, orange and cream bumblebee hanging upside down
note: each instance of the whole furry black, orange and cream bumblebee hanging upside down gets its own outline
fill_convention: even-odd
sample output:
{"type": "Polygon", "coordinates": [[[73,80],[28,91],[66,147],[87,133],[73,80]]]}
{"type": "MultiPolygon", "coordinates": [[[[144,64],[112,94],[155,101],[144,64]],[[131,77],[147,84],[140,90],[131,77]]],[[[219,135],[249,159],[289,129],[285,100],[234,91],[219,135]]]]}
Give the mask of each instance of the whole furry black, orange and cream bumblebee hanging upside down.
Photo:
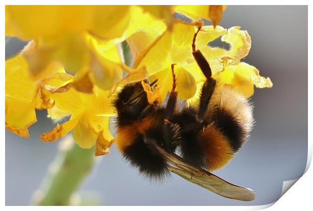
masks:
{"type": "MultiPolygon", "coordinates": [[[[200,29],[191,45],[192,55],[206,78],[198,102],[178,108],[175,64],[171,66],[173,85],[166,105],[149,103],[140,82],[125,85],[114,101],[116,144],[131,166],[149,179],[162,181],[174,172],[225,197],[252,200],[254,194],[249,189],[240,189],[244,196],[238,196],[238,186],[208,172],[229,163],[247,140],[253,118],[249,101],[233,86],[220,84],[212,77],[210,65],[196,50],[200,29]],[[212,181],[225,187],[214,188],[212,181]],[[225,192],[227,187],[229,191],[225,192]]],[[[151,88],[156,82],[149,84],[151,88]]]]}

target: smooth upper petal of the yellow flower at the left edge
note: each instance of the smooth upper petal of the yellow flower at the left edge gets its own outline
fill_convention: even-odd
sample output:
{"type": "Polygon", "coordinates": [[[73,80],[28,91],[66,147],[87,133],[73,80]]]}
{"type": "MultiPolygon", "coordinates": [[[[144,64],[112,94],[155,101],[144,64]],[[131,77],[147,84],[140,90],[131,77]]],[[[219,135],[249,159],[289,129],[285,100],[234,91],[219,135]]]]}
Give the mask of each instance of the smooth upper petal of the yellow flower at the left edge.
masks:
{"type": "Polygon", "coordinates": [[[6,96],[32,102],[37,93],[26,60],[18,55],[6,61],[6,96]]]}

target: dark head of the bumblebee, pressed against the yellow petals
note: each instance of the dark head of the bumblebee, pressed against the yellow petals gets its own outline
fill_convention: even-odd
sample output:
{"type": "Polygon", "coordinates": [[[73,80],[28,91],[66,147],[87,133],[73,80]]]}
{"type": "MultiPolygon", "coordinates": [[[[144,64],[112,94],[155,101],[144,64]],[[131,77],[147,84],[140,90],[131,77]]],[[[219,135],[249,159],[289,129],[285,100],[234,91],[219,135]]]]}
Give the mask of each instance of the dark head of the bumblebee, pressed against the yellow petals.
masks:
{"type": "Polygon", "coordinates": [[[114,101],[119,124],[129,124],[142,119],[142,112],[149,108],[149,105],[147,94],[140,82],[125,85],[114,101]]]}

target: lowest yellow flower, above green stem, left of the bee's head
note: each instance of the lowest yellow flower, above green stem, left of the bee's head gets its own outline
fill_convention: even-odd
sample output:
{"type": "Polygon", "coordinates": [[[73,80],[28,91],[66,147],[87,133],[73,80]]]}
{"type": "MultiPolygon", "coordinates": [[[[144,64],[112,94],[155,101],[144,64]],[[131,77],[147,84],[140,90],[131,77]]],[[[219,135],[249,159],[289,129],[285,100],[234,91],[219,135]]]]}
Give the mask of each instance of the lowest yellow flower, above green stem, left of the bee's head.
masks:
{"type": "MultiPolygon", "coordinates": [[[[51,119],[60,119],[71,114],[69,121],[41,135],[43,141],[56,141],[73,130],[75,142],[82,148],[91,148],[107,143],[111,145],[113,136],[109,130],[109,119],[114,114],[108,91],[94,87],[93,93],[87,94],[70,88],[65,93],[54,93],[55,107],[49,110],[51,119]],[[63,113],[60,114],[60,111],[63,113]],[[102,144],[100,144],[102,143],[102,144]]],[[[106,152],[108,153],[108,152],[106,152]]]]}

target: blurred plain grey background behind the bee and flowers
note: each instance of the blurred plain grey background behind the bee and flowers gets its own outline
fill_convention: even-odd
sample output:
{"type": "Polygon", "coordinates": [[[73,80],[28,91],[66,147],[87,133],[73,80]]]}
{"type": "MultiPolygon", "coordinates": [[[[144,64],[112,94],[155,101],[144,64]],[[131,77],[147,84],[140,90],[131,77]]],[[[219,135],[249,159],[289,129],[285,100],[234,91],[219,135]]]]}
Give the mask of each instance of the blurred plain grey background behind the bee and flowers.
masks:
{"type": "MultiPolygon", "coordinates": [[[[116,147],[103,156],[79,191],[95,191],[101,205],[262,205],[276,201],[283,181],[302,176],[307,160],[307,6],[228,6],[219,24],[241,26],[252,39],[242,61],[270,77],[271,89],[255,89],[256,125],[250,140],[219,177],[255,190],[251,202],[227,199],[179,176],[163,185],[138,175],[116,147]]],[[[6,58],[24,43],[6,39],[6,58]]],[[[46,111],[30,138],[6,130],[6,205],[28,205],[55,159],[59,142],[44,143],[40,134],[54,127],[46,111]]]]}

